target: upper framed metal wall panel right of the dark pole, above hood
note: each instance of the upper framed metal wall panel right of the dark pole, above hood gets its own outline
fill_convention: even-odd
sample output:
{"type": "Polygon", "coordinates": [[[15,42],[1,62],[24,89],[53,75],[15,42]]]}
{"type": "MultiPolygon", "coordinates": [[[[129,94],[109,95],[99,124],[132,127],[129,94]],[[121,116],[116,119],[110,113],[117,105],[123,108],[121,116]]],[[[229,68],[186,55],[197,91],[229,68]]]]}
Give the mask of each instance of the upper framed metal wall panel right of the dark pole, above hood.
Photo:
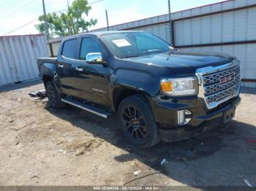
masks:
{"type": "Polygon", "coordinates": [[[252,7],[177,21],[176,46],[255,40],[255,17],[256,7],[252,7]]]}

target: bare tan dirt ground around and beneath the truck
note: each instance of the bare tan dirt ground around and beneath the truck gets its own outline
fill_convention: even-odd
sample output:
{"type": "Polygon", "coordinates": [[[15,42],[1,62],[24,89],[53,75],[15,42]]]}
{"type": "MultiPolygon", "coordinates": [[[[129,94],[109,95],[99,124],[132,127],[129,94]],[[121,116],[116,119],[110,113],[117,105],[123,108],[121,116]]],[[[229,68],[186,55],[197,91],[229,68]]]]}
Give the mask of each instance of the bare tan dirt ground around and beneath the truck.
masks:
{"type": "Polygon", "coordinates": [[[121,138],[116,116],[49,108],[28,95],[42,88],[0,89],[0,185],[122,186],[151,174],[126,185],[246,186],[246,179],[256,186],[256,90],[243,90],[226,128],[135,149],[121,138]]]}

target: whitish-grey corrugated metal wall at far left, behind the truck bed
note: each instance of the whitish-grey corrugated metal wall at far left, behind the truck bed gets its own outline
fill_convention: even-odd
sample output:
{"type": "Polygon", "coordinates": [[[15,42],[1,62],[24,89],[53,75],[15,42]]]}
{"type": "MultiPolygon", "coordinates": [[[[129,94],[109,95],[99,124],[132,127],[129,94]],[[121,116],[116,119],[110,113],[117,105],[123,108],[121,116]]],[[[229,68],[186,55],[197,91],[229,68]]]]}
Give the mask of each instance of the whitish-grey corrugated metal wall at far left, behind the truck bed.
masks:
{"type": "Polygon", "coordinates": [[[48,56],[42,35],[0,36],[0,86],[37,79],[37,58],[48,56]]]}

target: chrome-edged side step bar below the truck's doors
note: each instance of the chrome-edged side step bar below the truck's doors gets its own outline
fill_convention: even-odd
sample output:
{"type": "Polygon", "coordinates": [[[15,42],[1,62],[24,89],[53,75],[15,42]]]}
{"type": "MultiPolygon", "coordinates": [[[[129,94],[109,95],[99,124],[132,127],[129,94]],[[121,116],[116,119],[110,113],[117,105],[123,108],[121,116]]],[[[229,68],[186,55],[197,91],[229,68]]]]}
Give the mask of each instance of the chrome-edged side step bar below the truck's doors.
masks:
{"type": "Polygon", "coordinates": [[[100,117],[104,117],[105,119],[107,119],[111,115],[110,112],[106,112],[106,111],[104,111],[102,109],[99,109],[99,108],[97,108],[95,106],[91,106],[91,105],[88,105],[88,104],[83,104],[80,101],[75,101],[75,100],[72,100],[70,98],[61,98],[61,101],[65,102],[67,104],[70,104],[72,106],[76,106],[76,107],[78,107],[80,109],[86,110],[87,112],[91,112],[93,114],[97,114],[100,117]]]}

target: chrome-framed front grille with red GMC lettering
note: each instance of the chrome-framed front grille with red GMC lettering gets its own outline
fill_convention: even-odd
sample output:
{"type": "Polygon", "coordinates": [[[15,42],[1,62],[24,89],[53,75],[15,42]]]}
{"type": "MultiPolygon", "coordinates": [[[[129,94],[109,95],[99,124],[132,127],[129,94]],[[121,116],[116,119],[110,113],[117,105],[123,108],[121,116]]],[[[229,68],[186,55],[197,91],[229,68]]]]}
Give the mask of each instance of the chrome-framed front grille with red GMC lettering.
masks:
{"type": "MultiPolygon", "coordinates": [[[[240,65],[230,63],[227,67],[219,71],[212,67],[212,71],[207,71],[206,74],[200,72],[197,77],[200,77],[202,85],[202,97],[206,102],[208,109],[212,109],[219,104],[227,101],[230,98],[238,95],[240,88],[240,65]]],[[[203,69],[200,69],[203,71],[203,69]]]]}

